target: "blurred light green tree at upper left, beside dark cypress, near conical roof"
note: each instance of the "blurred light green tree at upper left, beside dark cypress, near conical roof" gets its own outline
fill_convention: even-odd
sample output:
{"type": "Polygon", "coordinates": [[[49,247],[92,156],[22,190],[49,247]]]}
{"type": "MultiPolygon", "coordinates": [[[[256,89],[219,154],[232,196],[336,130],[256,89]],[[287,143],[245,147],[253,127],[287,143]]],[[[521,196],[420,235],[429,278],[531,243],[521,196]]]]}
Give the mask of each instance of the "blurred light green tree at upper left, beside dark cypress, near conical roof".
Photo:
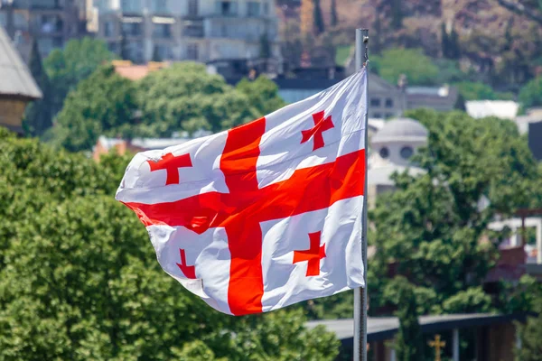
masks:
{"type": "Polygon", "coordinates": [[[85,37],[70,40],[63,49],[55,49],[45,58],[43,65],[51,79],[53,113],[58,113],[68,93],[75,89],[79,81],[116,55],[107,50],[106,42],[85,37]]]}

